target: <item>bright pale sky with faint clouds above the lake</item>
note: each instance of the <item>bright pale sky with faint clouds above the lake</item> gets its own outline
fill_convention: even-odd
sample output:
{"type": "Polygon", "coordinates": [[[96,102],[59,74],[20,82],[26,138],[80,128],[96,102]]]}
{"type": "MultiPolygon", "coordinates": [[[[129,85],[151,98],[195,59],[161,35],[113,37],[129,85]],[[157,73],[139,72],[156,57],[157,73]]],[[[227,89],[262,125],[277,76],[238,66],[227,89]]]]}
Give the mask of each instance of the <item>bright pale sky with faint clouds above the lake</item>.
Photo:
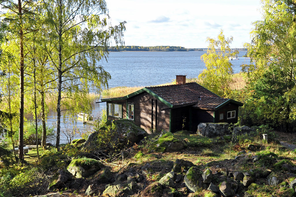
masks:
{"type": "Polygon", "coordinates": [[[106,0],[112,25],[126,21],[125,45],[207,48],[221,29],[231,48],[250,42],[260,0],[106,0]]]}

